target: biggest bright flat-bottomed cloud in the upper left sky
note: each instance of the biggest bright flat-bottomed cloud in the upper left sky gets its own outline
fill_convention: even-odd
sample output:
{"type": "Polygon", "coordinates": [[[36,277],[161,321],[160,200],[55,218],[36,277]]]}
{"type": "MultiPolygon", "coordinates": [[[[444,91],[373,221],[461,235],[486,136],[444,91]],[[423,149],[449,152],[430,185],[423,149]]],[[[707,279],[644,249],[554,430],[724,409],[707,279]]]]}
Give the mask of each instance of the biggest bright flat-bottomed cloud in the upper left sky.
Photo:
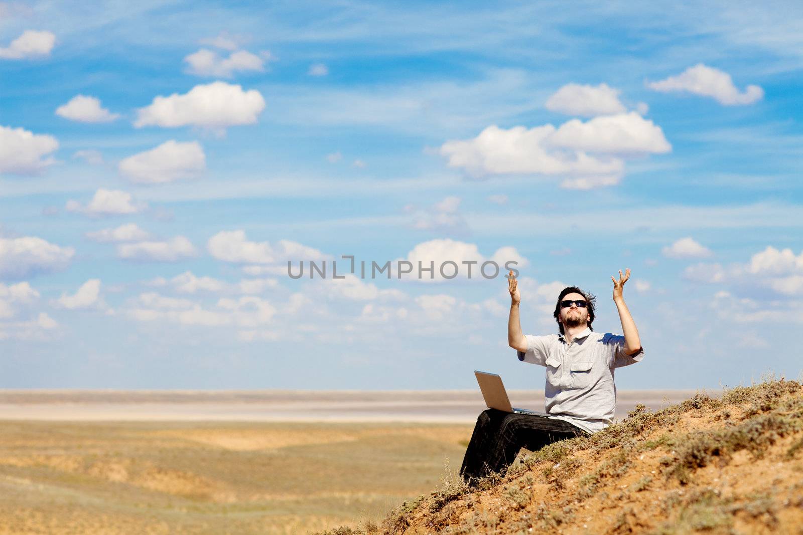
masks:
{"type": "Polygon", "coordinates": [[[265,99],[259,91],[243,91],[242,86],[218,81],[195,86],[184,95],[157,96],[150,106],[137,110],[134,126],[195,126],[222,131],[255,124],[264,109],[265,99]]]}

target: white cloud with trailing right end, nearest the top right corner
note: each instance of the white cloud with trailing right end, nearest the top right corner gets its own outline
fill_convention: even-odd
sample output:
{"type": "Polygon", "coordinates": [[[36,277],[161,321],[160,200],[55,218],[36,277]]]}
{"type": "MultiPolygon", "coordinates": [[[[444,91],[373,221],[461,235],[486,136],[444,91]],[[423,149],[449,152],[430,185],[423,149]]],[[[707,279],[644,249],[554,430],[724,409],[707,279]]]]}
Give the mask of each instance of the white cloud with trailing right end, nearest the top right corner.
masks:
{"type": "Polygon", "coordinates": [[[689,67],[677,76],[670,76],[646,85],[654,91],[663,93],[683,91],[694,95],[709,96],[724,106],[752,104],[764,98],[764,90],[761,87],[748,85],[744,92],[739,91],[733,84],[731,75],[703,65],[703,63],[689,67]]]}

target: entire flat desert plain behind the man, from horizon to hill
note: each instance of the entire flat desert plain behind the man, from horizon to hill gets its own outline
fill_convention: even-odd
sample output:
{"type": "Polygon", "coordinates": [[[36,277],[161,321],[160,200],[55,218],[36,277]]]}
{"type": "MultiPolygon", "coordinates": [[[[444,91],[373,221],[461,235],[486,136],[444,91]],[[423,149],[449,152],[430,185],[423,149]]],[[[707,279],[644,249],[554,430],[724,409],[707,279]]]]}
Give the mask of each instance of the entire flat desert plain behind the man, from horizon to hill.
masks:
{"type": "MultiPolygon", "coordinates": [[[[618,415],[691,395],[620,391],[618,415]]],[[[479,391],[0,391],[0,533],[381,521],[454,477],[484,408],[479,391]]]]}

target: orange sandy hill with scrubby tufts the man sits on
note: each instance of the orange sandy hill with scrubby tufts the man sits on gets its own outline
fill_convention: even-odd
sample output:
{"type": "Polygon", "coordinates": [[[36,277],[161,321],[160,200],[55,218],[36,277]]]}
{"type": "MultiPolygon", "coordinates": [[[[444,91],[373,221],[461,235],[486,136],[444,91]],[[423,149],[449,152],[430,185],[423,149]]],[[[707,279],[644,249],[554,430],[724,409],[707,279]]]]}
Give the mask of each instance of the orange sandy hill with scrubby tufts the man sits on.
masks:
{"type": "Polygon", "coordinates": [[[381,525],[325,533],[803,533],[803,386],[640,405],[478,488],[446,480],[381,525]]]}

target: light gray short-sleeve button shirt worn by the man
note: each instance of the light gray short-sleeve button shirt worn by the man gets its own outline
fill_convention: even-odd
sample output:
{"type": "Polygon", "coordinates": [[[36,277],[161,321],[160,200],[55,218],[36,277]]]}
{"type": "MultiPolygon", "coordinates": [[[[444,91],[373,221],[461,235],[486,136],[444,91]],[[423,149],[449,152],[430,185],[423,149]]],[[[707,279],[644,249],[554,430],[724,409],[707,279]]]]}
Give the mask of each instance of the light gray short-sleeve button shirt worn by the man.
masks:
{"type": "Polygon", "coordinates": [[[546,367],[546,411],[589,433],[613,423],[616,384],[613,370],[644,358],[644,348],[625,353],[622,334],[595,333],[586,328],[567,344],[562,334],[528,334],[527,351],[519,360],[546,367]]]}

